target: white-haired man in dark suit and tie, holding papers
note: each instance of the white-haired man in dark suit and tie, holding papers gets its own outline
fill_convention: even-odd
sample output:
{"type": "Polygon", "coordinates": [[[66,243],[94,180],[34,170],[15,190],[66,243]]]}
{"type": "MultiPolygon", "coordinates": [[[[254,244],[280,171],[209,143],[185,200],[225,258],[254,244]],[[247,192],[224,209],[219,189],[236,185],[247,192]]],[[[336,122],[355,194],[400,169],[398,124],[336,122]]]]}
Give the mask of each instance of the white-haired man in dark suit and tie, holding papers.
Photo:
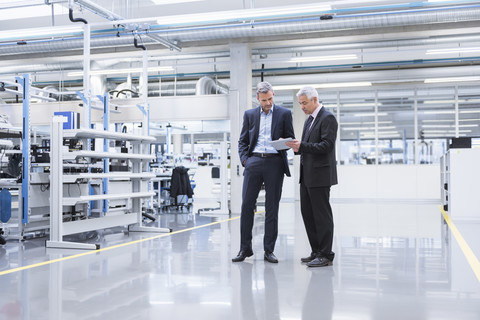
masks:
{"type": "Polygon", "coordinates": [[[309,267],[331,265],[333,215],[330,187],[337,184],[335,140],[338,123],[332,113],[318,101],[313,87],[303,87],[297,93],[298,102],[309,117],[303,127],[302,140],[287,142],[300,154],[300,207],[303,223],[311,246],[310,256],[302,258],[309,267]]]}

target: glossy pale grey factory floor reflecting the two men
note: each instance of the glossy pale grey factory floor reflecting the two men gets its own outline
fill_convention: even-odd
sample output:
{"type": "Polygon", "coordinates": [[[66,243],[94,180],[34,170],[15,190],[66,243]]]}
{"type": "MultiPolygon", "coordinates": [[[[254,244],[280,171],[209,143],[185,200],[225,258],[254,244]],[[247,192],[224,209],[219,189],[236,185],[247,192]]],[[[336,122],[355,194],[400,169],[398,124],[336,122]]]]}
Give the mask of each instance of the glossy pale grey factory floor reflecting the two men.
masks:
{"type": "MultiPolygon", "coordinates": [[[[447,224],[435,203],[333,204],[334,265],[308,268],[298,202],[281,203],[275,254],[242,263],[239,217],[163,213],[170,234],[109,230],[97,252],[0,247],[0,319],[480,319],[479,223],[447,224]]],[[[448,220],[448,218],[447,218],[448,220]]]]}

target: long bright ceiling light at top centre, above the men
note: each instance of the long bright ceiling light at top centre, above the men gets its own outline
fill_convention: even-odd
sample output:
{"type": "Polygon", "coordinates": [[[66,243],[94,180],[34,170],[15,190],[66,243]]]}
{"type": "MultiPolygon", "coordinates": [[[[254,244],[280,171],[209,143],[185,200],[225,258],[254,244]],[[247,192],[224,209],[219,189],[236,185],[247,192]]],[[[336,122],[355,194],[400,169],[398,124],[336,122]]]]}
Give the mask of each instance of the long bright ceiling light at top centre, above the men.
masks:
{"type": "Polygon", "coordinates": [[[284,7],[254,8],[231,11],[213,11],[195,14],[166,16],[157,20],[159,25],[194,25],[222,22],[243,22],[254,19],[273,19],[299,15],[320,15],[330,11],[330,5],[299,5],[284,7]]]}

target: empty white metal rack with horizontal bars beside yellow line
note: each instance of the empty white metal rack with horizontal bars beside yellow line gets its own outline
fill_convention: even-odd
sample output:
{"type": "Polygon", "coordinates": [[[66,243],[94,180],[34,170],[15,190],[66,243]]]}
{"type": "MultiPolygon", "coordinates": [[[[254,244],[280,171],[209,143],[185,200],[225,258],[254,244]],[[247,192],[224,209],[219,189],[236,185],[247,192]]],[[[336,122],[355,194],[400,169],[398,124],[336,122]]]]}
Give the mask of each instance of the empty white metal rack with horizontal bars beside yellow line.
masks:
{"type": "MultiPolygon", "coordinates": [[[[76,249],[98,249],[97,244],[76,243],[63,241],[63,236],[74,233],[99,230],[104,228],[128,225],[129,231],[146,232],[171,232],[167,228],[154,228],[142,226],[142,199],[151,198],[155,193],[148,189],[149,181],[155,175],[148,172],[148,161],[153,159],[149,154],[150,143],[154,138],[149,136],[130,135],[119,132],[95,129],[63,130],[63,117],[53,117],[50,144],[50,240],[46,245],[49,248],[76,248],[76,249]],[[63,139],[104,139],[104,145],[108,140],[128,141],[132,144],[132,153],[96,152],[90,150],[64,151],[63,139]],[[84,158],[84,161],[91,163],[93,159],[103,159],[104,172],[92,173],[64,173],[65,161],[84,158]],[[125,159],[132,163],[128,172],[108,172],[109,159],[125,159]],[[90,194],[88,182],[98,181],[103,190],[96,194],[90,194]],[[128,180],[131,190],[126,192],[108,192],[109,180],[128,180]],[[64,194],[64,186],[77,184],[80,194],[64,194]],[[127,199],[129,206],[123,210],[112,208],[109,210],[108,201],[127,199]],[[91,201],[104,201],[103,210],[98,215],[90,213],[91,201]],[[65,206],[83,206],[82,218],[73,221],[64,221],[63,208],[65,206]]],[[[97,210],[98,211],[98,210],[97,210]]]]}

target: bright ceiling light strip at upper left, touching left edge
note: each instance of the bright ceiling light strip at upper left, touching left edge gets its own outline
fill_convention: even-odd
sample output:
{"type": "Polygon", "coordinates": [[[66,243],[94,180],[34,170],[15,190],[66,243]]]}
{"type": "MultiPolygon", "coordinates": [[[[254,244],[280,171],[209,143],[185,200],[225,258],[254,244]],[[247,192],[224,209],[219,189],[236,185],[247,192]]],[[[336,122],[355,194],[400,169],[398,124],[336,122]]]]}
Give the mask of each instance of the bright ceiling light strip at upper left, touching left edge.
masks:
{"type": "Polygon", "coordinates": [[[2,35],[4,36],[0,37],[0,40],[27,40],[30,38],[48,38],[72,34],[83,34],[83,25],[3,30],[2,35]]]}

